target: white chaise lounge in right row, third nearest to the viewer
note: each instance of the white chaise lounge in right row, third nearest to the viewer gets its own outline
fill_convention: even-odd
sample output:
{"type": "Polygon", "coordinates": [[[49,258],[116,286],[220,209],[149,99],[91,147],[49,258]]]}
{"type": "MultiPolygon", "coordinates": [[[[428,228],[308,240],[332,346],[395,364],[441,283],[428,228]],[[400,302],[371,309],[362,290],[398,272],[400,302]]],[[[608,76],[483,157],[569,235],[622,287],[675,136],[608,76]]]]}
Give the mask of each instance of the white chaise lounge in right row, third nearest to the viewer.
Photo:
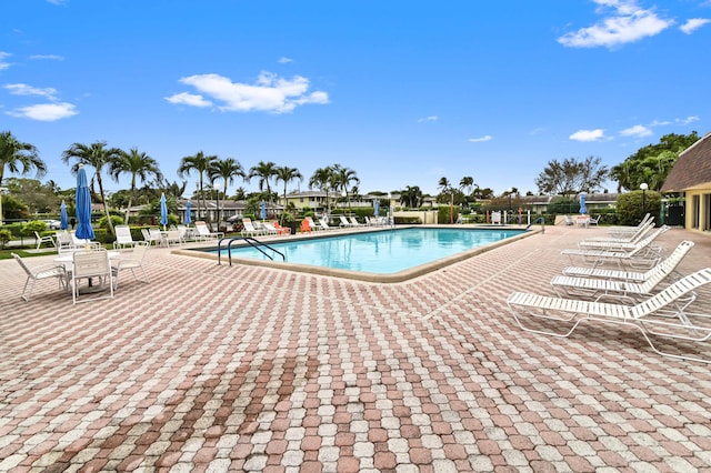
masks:
{"type": "Polygon", "coordinates": [[[598,250],[598,249],[568,249],[561,251],[561,254],[567,254],[571,263],[574,264],[574,259],[580,258],[584,263],[592,266],[601,266],[604,264],[615,263],[619,269],[622,269],[623,264],[630,268],[644,268],[650,269],[661,261],[661,249],[652,245],[652,240],[669,230],[668,227],[661,227],[661,232],[654,232],[647,236],[644,240],[638,242],[634,248],[629,251],[625,250],[598,250]]]}

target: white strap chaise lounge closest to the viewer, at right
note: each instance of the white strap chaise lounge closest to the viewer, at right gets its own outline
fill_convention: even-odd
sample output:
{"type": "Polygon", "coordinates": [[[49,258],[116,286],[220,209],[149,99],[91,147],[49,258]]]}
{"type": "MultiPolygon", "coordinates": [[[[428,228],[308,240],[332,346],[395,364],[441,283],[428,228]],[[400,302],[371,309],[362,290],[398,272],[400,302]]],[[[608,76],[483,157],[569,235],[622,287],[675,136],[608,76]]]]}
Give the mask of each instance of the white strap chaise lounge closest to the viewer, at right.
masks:
{"type": "MultiPolygon", "coordinates": [[[[702,343],[711,338],[711,315],[689,310],[701,286],[711,283],[711,268],[697,271],[635,305],[561,299],[513,292],[507,303],[519,326],[527,332],[567,338],[582,321],[619,323],[639,330],[654,352],[670,358],[711,363],[711,359],[664,351],[654,341],[702,343]],[[524,319],[539,320],[538,326],[524,319]],[[562,325],[569,325],[562,326],[562,325]],[[654,341],[653,341],[653,340],[654,341]]],[[[704,350],[708,346],[700,346],[704,350]]],[[[707,350],[708,351],[708,350],[707,350]]]]}

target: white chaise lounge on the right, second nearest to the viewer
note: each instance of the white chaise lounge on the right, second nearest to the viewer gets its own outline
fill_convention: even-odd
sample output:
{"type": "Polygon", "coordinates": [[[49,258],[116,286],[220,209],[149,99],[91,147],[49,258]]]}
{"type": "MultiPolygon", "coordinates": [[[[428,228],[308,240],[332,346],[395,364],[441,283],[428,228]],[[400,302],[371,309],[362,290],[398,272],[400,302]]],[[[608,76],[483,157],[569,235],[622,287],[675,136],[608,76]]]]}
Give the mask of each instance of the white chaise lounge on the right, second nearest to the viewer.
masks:
{"type": "Polygon", "coordinates": [[[583,296],[595,301],[617,298],[634,303],[640,300],[640,296],[649,296],[658,292],[657,288],[663,281],[673,279],[672,272],[692,246],[693,243],[690,241],[681,242],[669,258],[647,272],[647,279],[642,282],[557,275],[551,280],[551,285],[560,296],[583,296]]]}

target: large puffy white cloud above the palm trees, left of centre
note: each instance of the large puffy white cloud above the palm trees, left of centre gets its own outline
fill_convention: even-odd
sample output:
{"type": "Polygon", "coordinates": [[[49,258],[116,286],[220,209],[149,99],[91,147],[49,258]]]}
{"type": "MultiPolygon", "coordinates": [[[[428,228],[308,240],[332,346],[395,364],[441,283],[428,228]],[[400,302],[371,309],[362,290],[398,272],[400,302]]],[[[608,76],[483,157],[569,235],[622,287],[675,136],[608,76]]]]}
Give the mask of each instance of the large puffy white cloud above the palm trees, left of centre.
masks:
{"type": "MultiPolygon", "coordinates": [[[[286,113],[307,103],[329,103],[323,91],[308,93],[309,80],[301,76],[280,78],[271,72],[259,74],[253,84],[232,82],[219,74],[197,74],[180,79],[200,94],[179,93],[167,98],[172,103],[206,107],[212,99],[222,111],[266,111],[286,113]],[[209,98],[207,99],[206,95],[209,98]]],[[[211,103],[211,102],[210,102],[211,103]]]]}

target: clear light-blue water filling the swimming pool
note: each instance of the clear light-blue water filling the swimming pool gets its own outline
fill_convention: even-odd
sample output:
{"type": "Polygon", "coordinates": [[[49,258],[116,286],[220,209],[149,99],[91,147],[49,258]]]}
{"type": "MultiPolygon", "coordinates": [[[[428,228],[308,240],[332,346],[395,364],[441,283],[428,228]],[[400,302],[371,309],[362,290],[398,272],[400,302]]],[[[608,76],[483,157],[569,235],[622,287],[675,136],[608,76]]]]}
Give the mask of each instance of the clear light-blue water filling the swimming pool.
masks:
{"type": "MultiPolygon", "coordinates": [[[[329,238],[294,239],[269,243],[288,263],[309,264],[392,274],[523,233],[510,229],[405,228],[379,232],[333,234],[329,238]]],[[[223,243],[222,258],[228,258],[223,243]]],[[[217,251],[216,251],[217,253],[217,251]]],[[[281,256],[273,255],[274,261],[281,256]]],[[[253,248],[232,248],[232,258],[268,260],[253,248]]]]}

